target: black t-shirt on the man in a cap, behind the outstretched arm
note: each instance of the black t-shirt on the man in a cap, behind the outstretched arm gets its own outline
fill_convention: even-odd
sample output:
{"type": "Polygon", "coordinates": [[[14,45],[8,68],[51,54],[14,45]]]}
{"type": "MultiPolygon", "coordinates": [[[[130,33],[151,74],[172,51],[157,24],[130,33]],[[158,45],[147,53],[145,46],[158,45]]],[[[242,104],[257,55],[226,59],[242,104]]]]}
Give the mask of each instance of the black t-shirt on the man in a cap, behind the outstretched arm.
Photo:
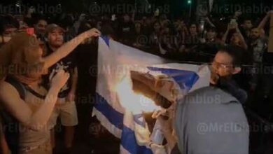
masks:
{"type": "MultiPolygon", "coordinates": [[[[46,45],[46,48],[47,48],[47,51],[48,51],[47,52],[47,56],[48,56],[53,51],[50,49],[49,45],[46,45]]],[[[62,89],[59,91],[58,97],[59,98],[66,97],[69,94],[70,90],[71,90],[71,72],[73,72],[75,67],[76,67],[76,55],[75,55],[75,53],[71,52],[68,56],[64,57],[63,59],[60,59],[59,62],[57,62],[56,64],[54,64],[53,66],[51,66],[48,69],[48,74],[46,76],[43,76],[45,86],[49,88],[50,81],[52,80],[52,78],[57,73],[57,70],[64,69],[64,71],[70,73],[70,78],[66,82],[64,87],[62,87],[62,89]]]]}

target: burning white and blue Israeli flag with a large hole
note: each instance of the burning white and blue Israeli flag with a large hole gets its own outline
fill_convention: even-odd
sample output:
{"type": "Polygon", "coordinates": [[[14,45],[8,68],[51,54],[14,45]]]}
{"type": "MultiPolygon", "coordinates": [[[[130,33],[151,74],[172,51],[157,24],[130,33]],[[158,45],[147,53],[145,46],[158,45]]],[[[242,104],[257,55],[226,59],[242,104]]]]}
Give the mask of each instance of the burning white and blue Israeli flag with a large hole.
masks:
{"type": "Polygon", "coordinates": [[[153,100],[134,92],[131,72],[165,78],[158,93],[171,102],[184,94],[209,85],[207,66],[176,64],[131,48],[109,38],[99,38],[98,77],[93,115],[120,139],[120,153],[150,154],[151,134],[142,116],[160,109],[153,100]],[[172,85],[172,86],[171,86],[172,85]]]}

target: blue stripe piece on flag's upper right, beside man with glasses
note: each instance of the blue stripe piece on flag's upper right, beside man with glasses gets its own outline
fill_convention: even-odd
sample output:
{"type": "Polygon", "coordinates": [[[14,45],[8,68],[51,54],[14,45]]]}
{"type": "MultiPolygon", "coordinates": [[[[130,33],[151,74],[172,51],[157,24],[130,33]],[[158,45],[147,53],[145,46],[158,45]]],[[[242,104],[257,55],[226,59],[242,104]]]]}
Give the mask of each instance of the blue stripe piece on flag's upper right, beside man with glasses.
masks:
{"type": "Polygon", "coordinates": [[[147,67],[151,71],[161,71],[167,76],[172,76],[172,78],[179,84],[181,90],[190,90],[196,81],[199,79],[199,76],[194,71],[185,71],[179,69],[164,69],[157,67],[147,67]]]}

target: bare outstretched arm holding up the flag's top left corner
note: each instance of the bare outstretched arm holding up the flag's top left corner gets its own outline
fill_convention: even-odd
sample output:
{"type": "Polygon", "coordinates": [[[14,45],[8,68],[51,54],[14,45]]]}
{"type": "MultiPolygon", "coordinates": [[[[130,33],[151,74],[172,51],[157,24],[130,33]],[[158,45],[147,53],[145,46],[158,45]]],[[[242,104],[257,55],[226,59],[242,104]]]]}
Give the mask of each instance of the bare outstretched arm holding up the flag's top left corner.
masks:
{"type": "Polygon", "coordinates": [[[43,68],[48,69],[50,66],[58,62],[59,59],[62,59],[63,57],[66,57],[66,55],[69,55],[69,53],[72,52],[86,38],[90,38],[92,36],[100,36],[100,34],[100,31],[97,29],[90,29],[76,36],[71,41],[62,45],[56,52],[53,52],[47,57],[44,57],[42,59],[42,61],[44,62],[43,68]]]}

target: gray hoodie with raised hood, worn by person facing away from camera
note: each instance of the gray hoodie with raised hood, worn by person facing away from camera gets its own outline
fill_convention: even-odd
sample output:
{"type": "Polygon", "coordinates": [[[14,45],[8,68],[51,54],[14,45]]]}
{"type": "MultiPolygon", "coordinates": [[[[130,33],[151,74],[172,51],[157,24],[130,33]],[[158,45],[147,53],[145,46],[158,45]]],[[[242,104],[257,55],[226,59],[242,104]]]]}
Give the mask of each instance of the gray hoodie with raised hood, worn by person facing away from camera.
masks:
{"type": "Polygon", "coordinates": [[[241,103],[218,87],[186,95],[176,107],[182,154],[247,154],[249,128],[241,103]]]}

